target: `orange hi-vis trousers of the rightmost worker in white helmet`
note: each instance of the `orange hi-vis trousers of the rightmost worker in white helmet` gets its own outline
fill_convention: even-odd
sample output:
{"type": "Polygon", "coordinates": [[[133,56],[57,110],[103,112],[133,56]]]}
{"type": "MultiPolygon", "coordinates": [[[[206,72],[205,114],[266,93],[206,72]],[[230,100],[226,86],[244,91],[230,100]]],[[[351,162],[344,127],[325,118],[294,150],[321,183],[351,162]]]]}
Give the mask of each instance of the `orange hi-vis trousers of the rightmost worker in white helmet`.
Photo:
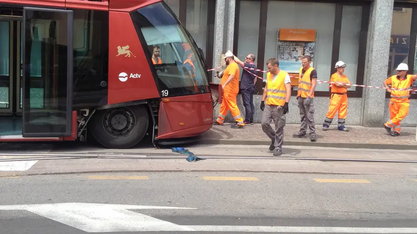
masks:
{"type": "Polygon", "coordinates": [[[394,100],[390,100],[389,103],[390,107],[390,120],[388,120],[385,125],[392,127],[393,131],[401,132],[401,124],[400,122],[407,117],[410,109],[409,102],[396,102],[394,100]]]}

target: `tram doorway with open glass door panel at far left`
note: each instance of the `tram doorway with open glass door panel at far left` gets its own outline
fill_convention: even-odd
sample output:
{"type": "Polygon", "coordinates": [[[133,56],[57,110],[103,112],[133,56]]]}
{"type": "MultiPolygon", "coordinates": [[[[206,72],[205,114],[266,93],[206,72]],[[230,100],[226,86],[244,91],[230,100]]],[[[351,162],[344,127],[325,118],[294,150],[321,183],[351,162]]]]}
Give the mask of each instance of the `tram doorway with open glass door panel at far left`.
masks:
{"type": "Polygon", "coordinates": [[[71,135],[72,11],[0,5],[0,138],[71,135]]]}

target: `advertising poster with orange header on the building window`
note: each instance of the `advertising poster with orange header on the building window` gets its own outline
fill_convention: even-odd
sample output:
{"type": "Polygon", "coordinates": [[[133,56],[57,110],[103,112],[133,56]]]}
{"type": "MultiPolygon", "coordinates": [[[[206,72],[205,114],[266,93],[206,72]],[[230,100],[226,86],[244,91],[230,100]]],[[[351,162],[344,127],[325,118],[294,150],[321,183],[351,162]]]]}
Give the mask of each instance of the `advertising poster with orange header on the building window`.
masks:
{"type": "Polygon", "coordinates": [[[279,69],[288,73],[298,73],[301,67],[301,57],[312,58],[310,66],[314,65],[317,43],[317,30],[314,29],[278,29],[277,59],[279,69]]]}

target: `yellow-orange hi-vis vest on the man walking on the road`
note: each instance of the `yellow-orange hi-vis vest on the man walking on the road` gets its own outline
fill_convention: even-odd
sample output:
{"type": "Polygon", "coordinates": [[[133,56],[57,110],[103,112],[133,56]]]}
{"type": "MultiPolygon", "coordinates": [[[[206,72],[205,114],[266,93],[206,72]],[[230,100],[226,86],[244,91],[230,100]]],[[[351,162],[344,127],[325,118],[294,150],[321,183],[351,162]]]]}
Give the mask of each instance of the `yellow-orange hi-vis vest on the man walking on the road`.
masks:
{"type": "Polygon", "coordinates": [[[274,75],[271,72],[267,73],[267,99],[265,100],[265,104],[284,106],[286,96],[284,81],[286,75],[288,75],[287,72],[280,70],[274,81],[274,75]]]}

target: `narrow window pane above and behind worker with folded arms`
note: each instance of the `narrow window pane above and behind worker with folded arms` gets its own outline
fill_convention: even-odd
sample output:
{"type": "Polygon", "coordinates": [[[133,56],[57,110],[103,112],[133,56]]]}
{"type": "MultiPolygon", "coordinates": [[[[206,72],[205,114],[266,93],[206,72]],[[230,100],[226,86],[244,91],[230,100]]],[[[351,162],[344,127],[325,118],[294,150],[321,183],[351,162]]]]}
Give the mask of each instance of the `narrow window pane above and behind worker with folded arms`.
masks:
{"type": "MultiPolygon", "coordinates": [[[[362,6],[344,5],[342,14],[342,30],[340,35],[339,59],[346,63],[345,75],[352,84],[356,84],[358,53],[360,44],[360,26],[362,22],[362,6]]],[[[335,64],[332,64],[334,68],[335,64]]],[[[334,69],[332,69],[334,70],[334,69]]],[[[356,90],[356,86],[348,88],[356,90]]]]}

